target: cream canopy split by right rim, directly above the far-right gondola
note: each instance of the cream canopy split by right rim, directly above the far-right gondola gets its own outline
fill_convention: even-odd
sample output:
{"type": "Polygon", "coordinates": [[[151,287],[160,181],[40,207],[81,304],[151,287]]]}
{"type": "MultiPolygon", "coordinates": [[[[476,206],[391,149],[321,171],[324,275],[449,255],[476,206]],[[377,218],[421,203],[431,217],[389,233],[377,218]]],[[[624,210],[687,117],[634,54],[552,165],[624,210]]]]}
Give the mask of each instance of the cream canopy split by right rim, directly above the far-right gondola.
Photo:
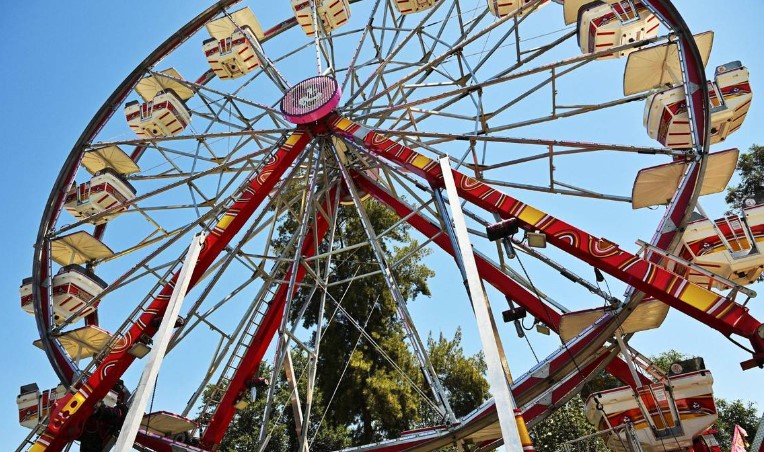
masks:
{"type": "MultiPolygon", "coordinates": [[[[719,193],[727,187],[735,172],[739,154],[737,149],[709,154],[700,188],[701,196],[719,193]]],[[[668,204],[686,170],[686,162],[667,163],[640,170],[631,191],[631,207],[640,209],[668,204]]]]}

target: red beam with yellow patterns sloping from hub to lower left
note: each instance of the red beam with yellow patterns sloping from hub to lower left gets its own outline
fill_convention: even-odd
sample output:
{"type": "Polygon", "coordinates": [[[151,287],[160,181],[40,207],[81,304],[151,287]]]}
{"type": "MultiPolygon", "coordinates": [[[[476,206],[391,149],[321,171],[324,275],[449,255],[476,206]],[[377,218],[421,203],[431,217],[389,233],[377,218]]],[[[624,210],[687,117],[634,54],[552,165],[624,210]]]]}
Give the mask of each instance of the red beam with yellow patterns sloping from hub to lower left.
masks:
{"type": "MultiPolygon", "coordinates": [[[[260,174],[250,180],[247,188],[242,191],[239,198],[234,201],[207,236],[191,276],[188,290],[194,287],[220,252],[246,224],[310,140],[311,135],[298,128],[276,150],[260,174]]],[[[67,443],[79,436],[95,404],[106,396],[135,360],[135,357],[129,354],[128,350],[141,336],[152,337],[156,333],[158,327],[154,325],[154,320],[160,319],[164,315],[177,276],[176,273],[171,281],[162,288],[159,295],[133,323],[127,333],[121,337],[92,375],[77,388],[78,391],[74,394],[67,393],[66,396],[56,402],[45,432],[32,448],[34,452],[58,452],[67,443]]]]}

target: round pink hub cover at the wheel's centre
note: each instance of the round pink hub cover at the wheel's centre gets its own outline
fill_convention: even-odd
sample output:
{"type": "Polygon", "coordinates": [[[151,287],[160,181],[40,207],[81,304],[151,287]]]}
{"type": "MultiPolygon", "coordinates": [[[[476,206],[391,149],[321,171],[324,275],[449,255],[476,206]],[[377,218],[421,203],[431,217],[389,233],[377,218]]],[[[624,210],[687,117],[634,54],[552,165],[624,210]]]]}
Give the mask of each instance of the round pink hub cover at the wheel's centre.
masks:
{"type": "Polygon", "coordinates": [[[337,80],[324,75],[311,77],[287,91],[281,99],[281,113],[294,124],[317,121],[339,104],[341,96],[337,80]]]}

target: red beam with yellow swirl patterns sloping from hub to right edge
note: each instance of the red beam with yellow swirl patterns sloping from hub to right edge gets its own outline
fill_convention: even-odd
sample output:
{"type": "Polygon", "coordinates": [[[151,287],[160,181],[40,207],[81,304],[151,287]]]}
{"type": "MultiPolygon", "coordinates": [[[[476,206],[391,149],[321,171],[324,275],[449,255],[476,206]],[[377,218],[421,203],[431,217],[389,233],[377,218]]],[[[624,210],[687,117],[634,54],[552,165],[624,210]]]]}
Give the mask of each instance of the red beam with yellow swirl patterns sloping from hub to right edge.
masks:
{"type": "MultiPolygon", "coordinates": [[[[328,118],[328,122],[336,133],[405,167],[432,186],[443,185],[440,167],[434,160],[341,116],[333,115],[328,118]]],[[[764,363],[764,324],[751,316],[745,306],[693,284],[659,265],[620,249],[607,239],[595,237],[459,171],[452,170],[452,173],[462,199],[502,218],[517,218],[523,229],[546,234],[551,245],[663,301],[725,336],[736,334],[748,339],[753,346],[754,360],[764,363]]]]}

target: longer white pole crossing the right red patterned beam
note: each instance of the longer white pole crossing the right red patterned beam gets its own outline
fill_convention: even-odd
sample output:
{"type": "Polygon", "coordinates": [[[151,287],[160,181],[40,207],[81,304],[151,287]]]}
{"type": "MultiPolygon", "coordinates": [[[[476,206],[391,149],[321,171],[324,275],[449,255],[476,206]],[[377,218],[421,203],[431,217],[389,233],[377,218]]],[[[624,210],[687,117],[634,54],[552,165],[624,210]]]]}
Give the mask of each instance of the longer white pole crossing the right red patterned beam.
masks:
{"type": "Polygon", "coordinates": [[[491,386],[496,403],[496,412],[499,415],[499,426],[501,427],[501,436],[504,438],[504,450],[521,451],[523,450],[520,441],[520,433],[517,430],[515,421],[515,400],[509,389],[507,376],[501,365],[499,348],[496,345],[494,329],[492,326],[492,315],[489,309],[488,298],[483,291],[483,284],[480,280],[480,274],[475,263],[475,255],[472,252],[472,244],[467,233],[467,223],[464,221],[464,213],[459,204],[459,194],[456,191],[454,175],[451,172],[451,165],[448,158],[440,159],[440,168],[443,171],[443,182],[446,185],[448,193],[451,216],[454,222],[454,232],[456,240],[459,243],[459,250],[464,262],[464,272],[467,274],[467,286],[470,289],[472,305],[475,309],[475,318],[480,333],[480,342],[483,345],[485,353],[485,362],[488,366],[488,384],[491,386]]]}

